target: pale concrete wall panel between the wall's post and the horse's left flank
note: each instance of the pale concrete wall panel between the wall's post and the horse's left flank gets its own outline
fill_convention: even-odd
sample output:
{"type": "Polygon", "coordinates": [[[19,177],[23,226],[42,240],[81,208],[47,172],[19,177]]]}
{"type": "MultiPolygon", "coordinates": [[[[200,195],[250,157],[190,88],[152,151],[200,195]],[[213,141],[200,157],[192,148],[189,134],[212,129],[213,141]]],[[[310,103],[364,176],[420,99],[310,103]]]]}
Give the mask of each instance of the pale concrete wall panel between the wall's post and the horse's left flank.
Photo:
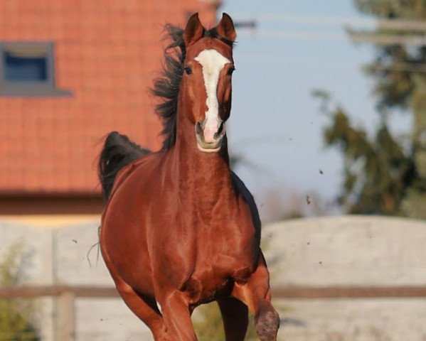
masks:
{"type": "MultiPolygon", "coordinates": [[[[88,222],[55,232],[58,283],[114,286],[97,246],[93,247],[97,227],[99,222],[88,222]]],[[[76,312],[77,341],[151,340],[148,328],[119,298],[80,298],[76,312]]]]}

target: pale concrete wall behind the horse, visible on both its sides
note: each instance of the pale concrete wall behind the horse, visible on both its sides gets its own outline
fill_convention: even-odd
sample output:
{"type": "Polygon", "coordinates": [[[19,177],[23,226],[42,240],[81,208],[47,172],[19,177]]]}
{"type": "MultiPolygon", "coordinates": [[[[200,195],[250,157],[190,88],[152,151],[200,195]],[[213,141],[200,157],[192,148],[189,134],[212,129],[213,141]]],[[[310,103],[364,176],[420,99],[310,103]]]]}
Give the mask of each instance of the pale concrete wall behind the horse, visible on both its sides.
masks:
{"type": "MultiPolygon", "coordinates": [[[[23,241],[24,283],[112,286],[97,261],[97,220],[60,229],[0,220],[0,257],[23,241]],[[90,262],[87,261],[87,257],[90,262]],[[91,265],[90,265],[91,264],[91,265]]],[[[426,222],[388,217],[324,217],[263,228],[272,285],[426,285],[426,222]]],[[[55,340],[51,299],[38,303],[44,340],[55,340]]],[[[424,299],[275,300],[279,340],[424,341],[424,299]]],[[[78,299],[77,340],[152,340],[119,299],[78,299]]]]}

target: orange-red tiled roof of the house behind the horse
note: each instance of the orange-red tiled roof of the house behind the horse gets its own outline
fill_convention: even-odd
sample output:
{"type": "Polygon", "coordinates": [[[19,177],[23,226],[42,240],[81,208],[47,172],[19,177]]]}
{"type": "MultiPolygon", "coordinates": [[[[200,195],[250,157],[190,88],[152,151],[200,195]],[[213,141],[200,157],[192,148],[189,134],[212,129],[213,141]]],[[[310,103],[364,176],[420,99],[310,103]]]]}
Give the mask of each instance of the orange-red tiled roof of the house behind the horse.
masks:
{"type": "Polygon", "coordinates": [[[0,195],[99,192],[96,158],[112,130],[159,148],[148,88],[163,25],[195,11],[213,24],[209,2],[1,0],[0,41],[55,43],[56,87],[73,95],[0,97],[0,195]]]}

